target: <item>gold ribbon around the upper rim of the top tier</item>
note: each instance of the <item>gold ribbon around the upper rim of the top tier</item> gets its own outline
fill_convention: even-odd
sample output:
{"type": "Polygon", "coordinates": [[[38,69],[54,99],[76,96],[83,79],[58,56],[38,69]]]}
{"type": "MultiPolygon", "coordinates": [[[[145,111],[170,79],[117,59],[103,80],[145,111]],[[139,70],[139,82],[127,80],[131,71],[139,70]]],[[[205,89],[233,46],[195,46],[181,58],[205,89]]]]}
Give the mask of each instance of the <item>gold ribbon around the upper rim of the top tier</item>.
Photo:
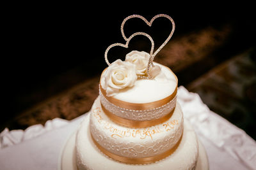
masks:
{"type": "Polygon", "coordinates": [[[150,110],[153,108],[161,107],[164,104],[167,104],[170,101],[172,101],[172,99],[177,94],[177,87],[175,88],[174,92],[170,96],[165,97],[164,99],[161,99],[159,101],[154,101],[150,103],[129,103],[125,101],[120,101],[118,99],[115,99],[114,97],[108,97],[106,94],[106,91],[102,89],[101,85],[100,85],[100,92],[110,103],[113,103],[116,106],[119,106],[121,108],[130,109],[130,110],[150,110]]]}

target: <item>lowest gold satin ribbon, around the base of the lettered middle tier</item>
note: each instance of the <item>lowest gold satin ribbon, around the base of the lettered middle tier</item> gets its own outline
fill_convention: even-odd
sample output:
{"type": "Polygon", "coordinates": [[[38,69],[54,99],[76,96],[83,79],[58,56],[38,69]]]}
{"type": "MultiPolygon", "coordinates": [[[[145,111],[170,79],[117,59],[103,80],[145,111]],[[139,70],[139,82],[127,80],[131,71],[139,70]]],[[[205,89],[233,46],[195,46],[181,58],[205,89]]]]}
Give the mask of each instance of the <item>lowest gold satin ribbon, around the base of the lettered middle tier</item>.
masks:
{"type": "Polygon", "coordinates": [[[102,153],[104,153],[105,155],[107,155],[112,159],[118,160],[120,162],[124,162],[126,164],[150,164],[150,163],[156,162],[157,160],[164,159],[165,157],[168,157],[173,152],[175,152],[175,150],[180,145],[181,139],[182,139],[182,136],[180,137],[179,141],[176,143],[175,146],[173,146],[170,150],[167,150],[166,152],[160,153],[159,155],[152,156],[152,157],[144,157],[144,158],[129,158],[129,157],[122,157],[120,155],[116,155],[115,153],[109,152],[108,150],[100,146],[99,143],[97,143],[97,141],[95,141],[95,139],[92,136],[93,143],[95,143],[97,148],[99,148],[99,150],[102,153]]]}

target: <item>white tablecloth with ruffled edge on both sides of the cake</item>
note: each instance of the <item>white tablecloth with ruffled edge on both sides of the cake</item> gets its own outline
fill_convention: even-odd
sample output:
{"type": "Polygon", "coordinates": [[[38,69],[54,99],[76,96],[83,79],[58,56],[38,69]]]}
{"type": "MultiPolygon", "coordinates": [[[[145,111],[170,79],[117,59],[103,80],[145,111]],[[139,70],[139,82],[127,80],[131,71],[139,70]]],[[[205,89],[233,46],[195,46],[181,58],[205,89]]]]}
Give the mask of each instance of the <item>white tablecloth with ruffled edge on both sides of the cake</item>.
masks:
{"type": "MultiPolygon", "coordinates": [[[[179,87],[184,118],[193,125],[214,169],[256,169],[256,143],[244,131],[213,113],[198,94],[179,87]]],[[[0,169],[57,169],[61,148],[84,114],[72,121],[55,118],[25,131],[4,129],[0,134],[0,169]]]]}

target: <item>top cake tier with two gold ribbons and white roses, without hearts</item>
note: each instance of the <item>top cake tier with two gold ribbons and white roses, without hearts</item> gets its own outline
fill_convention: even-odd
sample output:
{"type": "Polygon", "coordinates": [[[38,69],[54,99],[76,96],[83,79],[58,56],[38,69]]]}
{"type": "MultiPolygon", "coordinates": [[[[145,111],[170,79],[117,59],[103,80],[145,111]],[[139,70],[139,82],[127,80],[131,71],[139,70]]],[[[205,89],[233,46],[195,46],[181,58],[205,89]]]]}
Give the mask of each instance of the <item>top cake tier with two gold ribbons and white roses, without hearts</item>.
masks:
{"type": "Polygon", "coordinates": [[[148,55],[132,51],[125,61],[116,60],[102,72],[102,108],[118,124],[129,127],[159,124],[170,118],[175,108],[177,77],[171,69],[156,62],[147,71],[148,55]],[[151,78],[141,78],[147,74],[151,78]]]}

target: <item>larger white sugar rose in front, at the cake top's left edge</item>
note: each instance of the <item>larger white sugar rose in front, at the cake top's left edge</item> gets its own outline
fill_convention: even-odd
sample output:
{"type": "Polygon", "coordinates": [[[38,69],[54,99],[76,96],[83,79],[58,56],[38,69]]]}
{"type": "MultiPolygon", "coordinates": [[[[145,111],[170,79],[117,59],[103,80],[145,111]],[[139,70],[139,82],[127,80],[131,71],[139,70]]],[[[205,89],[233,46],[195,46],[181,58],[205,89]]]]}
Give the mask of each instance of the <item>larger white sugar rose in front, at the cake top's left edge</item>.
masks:
{"type": "Polygon", "coordinates": [[[113,62],[103,74],[102,88],[107,96],[114,96],[120,89],[132,87],[137,80],[134,64],[120,59],[113,62]]]}

